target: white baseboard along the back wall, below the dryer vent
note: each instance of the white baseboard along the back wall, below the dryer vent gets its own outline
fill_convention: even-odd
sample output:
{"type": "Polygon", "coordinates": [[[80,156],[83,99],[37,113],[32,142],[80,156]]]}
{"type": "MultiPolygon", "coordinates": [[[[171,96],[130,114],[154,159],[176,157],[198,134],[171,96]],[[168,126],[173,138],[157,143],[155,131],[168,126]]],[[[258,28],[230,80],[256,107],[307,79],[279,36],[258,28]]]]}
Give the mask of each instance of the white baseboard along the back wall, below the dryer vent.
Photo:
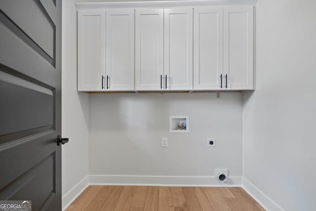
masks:
{"type": "Polygon", "coordinates": [[[90,175],[93,185],[150,185],[150,186],[241,186],[242,177],[228,177],[219,182],[214,176],[141,176],[90,175]]]}

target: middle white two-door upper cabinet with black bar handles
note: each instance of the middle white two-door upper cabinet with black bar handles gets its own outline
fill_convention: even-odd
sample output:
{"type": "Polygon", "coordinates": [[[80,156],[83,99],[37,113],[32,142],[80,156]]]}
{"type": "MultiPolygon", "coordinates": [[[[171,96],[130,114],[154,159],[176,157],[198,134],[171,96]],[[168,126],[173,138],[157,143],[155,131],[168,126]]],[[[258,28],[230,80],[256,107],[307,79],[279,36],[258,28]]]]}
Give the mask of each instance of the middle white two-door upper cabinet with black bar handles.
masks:
{"type": "Polygon", "coordinates": [[[135,89],[193,89],[193,9],[135,11],[135,89]]]}

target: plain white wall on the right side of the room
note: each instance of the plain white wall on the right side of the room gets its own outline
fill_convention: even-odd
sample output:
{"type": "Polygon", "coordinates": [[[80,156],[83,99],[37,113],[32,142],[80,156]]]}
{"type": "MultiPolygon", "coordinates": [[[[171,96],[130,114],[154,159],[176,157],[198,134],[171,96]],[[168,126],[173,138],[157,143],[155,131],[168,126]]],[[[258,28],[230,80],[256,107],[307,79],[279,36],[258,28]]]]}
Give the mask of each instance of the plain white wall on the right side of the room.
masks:
{"type": "Polygon", "coordinates": [[[267,201],[270,210],[316,208],[315,9],[315,0],[257,4],[256,90],[243,94],[243,177],[258,198],[276,203],[267,201]]]}

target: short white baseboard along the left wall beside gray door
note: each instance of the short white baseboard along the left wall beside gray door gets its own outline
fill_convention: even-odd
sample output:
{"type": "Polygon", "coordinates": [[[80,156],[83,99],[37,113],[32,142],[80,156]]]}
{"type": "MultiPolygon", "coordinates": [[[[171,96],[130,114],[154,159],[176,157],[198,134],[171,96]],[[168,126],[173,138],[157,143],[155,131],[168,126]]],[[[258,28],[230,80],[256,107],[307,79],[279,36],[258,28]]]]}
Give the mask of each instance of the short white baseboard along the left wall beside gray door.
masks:
{"type": "Polygon", "coordinates": [[[66,210],[73,201],[86,189],[89,185],[89,175],[84,177],[73,189],[62,197],[62,210],[66,210]]]}

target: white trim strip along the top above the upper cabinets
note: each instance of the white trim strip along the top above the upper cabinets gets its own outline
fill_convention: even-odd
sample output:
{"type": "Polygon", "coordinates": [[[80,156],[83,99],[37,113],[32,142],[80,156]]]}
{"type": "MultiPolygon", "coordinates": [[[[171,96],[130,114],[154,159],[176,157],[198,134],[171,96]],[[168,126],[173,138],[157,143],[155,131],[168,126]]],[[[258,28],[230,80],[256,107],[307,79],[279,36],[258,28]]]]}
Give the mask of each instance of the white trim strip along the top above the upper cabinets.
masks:
{"type": "Polygon", "coordinates": [[[87,8],[128,8],[128,7],[152,7],[166,8],[179,6],[212,6],[212,5],[253,5],[257,0],[135,0],[135,1],[108,1],[108,2],[78,2],[77,9],[87,8]]]}

